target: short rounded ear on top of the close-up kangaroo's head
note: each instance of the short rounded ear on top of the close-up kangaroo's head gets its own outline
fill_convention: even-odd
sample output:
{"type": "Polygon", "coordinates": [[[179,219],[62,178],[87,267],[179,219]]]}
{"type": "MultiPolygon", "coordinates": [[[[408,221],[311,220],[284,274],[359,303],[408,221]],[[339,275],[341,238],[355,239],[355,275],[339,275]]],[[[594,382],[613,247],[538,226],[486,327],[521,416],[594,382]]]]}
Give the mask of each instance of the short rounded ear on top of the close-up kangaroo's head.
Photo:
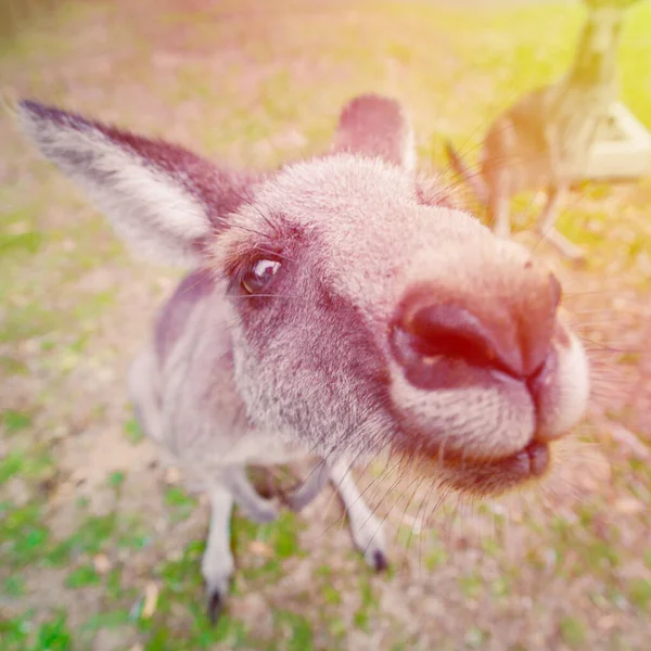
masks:
{"type": "Polygon", "coordinates": [[[333,150],[380,157],[408,170],[416,167],[413,131],[403,106],[379,94],[358,95],[344,106],[333,150]]]}

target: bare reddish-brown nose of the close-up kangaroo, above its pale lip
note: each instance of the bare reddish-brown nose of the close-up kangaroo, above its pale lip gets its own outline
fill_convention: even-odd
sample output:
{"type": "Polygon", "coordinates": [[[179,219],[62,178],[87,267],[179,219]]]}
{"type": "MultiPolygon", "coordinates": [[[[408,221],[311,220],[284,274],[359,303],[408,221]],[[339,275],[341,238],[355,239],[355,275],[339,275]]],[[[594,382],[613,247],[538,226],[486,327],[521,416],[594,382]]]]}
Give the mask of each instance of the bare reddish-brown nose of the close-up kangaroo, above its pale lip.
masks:
{"type": "MultiPolygon", "coordinates": [[[[527,263],[520,271],[526,275],[527,263]]],[[[523,282],[508,302],[485,301],[473,292],[445,296],[427,286],[407,293],[392,326],[392,347],[416,385],[439,388],[437,373],[410,373],[413,363],[435,370],[451,359],[473,369],[532,379],[545,365],[554,332],[561,289],[551,273],[523,282]]],[[[497,290],[496,290],[497,291],[497,290]]],[[[445,381],[444,381],[445,383],[445,381]]]]}

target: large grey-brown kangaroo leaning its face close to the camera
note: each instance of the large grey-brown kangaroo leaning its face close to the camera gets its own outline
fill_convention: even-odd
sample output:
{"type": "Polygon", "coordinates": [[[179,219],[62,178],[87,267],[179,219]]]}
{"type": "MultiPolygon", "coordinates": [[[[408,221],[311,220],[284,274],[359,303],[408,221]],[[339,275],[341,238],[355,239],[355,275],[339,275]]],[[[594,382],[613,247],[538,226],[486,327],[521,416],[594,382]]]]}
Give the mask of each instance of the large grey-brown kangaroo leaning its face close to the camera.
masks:
{"type": "Polygon", "coordinates": [[[143,430],[209,499],[213,618],[233,572],[233,506],[257,522],[278,513],[247,464],[315,455],[289,505],[330,480],[382,570],[383,526],[352,464],[403,455],[446,487],[498,495],[540,480],[582,418],[588,365],[558,280],[413,171],[397,101],[354,99],[330,151],[267,173],[33,101],[18,117],[136,254],[192,269],[129,392],[143,430]]]}

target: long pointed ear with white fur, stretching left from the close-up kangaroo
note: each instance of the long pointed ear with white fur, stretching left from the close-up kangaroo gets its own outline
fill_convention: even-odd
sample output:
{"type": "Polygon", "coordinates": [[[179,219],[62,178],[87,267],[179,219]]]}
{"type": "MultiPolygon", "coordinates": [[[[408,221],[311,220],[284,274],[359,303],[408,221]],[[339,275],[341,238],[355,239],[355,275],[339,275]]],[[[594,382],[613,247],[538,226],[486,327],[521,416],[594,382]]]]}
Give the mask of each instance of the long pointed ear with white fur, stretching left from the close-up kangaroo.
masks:
{"type": "Polygon", "coordinates": [[[138,253],[194,266],[244,201],[255,175],[221,170],[187,150],[24,101],[23,129],[82,188],[138,253]]]}

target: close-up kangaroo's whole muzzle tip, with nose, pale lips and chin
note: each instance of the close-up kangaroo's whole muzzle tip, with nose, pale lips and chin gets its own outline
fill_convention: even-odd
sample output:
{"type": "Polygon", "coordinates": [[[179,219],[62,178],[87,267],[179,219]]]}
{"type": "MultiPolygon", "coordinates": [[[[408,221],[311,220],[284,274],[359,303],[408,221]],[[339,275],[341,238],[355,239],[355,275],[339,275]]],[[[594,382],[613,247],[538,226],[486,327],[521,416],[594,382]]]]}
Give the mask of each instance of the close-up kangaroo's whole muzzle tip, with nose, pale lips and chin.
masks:
{"type": "Polygon", "coordinates": [[[431,265],[439,278],[412,282],[388,329],[400,445],[462,485],[488,469],[508,482],[544,474],[548,444],[575,423],[560,418],[572,411],[565,397],[584,404],[583,387],[566,386],[587,367],[559,317],[559,281],[516,245],[497,246],[484,241],[465,265],[451,253],[455,275],[431,265]]]}

